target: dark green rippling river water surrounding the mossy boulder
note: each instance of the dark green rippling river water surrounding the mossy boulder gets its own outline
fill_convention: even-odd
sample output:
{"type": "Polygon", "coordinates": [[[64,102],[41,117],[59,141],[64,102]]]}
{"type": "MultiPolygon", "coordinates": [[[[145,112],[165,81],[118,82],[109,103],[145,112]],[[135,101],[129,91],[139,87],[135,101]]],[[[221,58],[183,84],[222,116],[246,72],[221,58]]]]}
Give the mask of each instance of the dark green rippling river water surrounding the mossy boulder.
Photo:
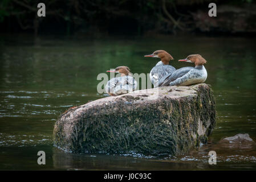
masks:
{"type": "Polygon", "coordinates": [[[256,169],[255,148],[223,148],[223,137],[248,133],[256,141],[256,48],[251,38],[158,38],[70,40],[23,36],[0,39],[0,169],[256,169]],[[109,68],[127,65],[149,73],[157,59],[143,55],[165,49],[176,68],[192,53],[208,60],[207,84],[217,102],[217,127],[207,146],[188,155],[153,158],[141,155],[70,154],[52,145],[56,118],[71,106],[105,97],[96,80],[109,68]],[[37,152],[46,152],[46,165],[37,152]],[[217,165],[208,152],[217,152],[217,165]]]}

